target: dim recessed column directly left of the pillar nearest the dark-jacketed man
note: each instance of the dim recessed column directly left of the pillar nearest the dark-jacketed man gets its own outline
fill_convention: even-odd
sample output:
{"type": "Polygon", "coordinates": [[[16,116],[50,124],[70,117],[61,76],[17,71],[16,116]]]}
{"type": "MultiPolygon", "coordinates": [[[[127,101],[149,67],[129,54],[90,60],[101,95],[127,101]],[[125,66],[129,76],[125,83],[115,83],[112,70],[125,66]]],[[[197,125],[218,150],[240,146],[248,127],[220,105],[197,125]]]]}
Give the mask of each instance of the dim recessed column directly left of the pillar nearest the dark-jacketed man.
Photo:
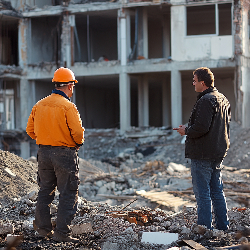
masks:
{"type": "Polygon", "coordinates": [[[171,105],[170,93],[168,88],[167,79],[162,83],[162,125],[165,127],[171,126],[171,105]]]}

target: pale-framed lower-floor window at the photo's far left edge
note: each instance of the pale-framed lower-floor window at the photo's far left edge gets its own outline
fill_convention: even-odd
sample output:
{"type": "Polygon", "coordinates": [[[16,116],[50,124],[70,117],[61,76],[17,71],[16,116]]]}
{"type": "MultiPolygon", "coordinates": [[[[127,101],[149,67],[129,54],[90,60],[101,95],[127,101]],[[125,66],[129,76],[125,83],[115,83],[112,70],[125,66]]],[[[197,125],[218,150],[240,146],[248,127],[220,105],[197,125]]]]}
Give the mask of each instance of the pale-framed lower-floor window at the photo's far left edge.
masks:
{"type": "Polygon", "coordinates": [[[0,127],[15,129],[14,89],[0,90],[0,127]]]}

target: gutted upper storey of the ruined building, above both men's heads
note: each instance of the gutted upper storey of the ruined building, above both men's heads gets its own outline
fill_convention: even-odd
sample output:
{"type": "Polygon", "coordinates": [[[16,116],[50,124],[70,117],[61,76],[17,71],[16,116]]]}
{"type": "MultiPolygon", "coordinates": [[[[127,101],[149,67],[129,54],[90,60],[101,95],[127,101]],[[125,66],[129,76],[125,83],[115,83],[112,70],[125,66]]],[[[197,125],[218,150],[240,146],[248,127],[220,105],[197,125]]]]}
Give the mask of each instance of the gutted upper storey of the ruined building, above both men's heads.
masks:
{"type": "Polygon", "coordinates": [[[248,12],[239,14],[232,1],[3,2],[0,64],[26,68],[28,78],[47,77],[53,66],[76,71],[80,66],[85,75],[117,74],[124,49],[128,68],[133,62],[131,73],[171,71],[176,62],[234,60],[235,53],[249,56],[248,12]]]}

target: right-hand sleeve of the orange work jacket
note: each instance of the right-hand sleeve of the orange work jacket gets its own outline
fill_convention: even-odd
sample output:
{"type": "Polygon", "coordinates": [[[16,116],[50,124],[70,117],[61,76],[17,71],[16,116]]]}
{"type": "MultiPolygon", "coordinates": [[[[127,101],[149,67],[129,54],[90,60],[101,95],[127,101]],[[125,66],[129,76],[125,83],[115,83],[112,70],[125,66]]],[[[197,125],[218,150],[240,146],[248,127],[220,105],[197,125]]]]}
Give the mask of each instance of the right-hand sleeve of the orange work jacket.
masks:
{"type": "Polygon", "coordinates": [[[72,139],[79,147],[84,143],[84,127],[82,127],[82,120],[80,114],[73,104],[66,114],[67,125],[72,136],[72,139]]]}

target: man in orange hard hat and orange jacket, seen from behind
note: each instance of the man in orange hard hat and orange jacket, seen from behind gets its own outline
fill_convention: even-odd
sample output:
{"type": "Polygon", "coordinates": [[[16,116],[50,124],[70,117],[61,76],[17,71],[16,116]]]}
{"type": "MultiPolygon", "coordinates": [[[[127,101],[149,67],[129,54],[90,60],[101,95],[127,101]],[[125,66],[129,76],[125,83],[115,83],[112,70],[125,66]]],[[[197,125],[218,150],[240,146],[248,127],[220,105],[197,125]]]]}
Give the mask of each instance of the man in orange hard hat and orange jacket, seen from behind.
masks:
{"type": "Polygon", "coordinates": [[[38,184],[34,229],[55,241],[78,242],[72,238],[70,224],[77,210],[79,160],[77,151],[84,142],[84,128],[79,112],[70,101],[75,83],[68,68],[55,71],[52,94],[38,101],[32,108],[26,132],[39,145],[38,184]],[[56,187],[60,193],[57,221],[52,230],[50,204],[56,187]]]}

